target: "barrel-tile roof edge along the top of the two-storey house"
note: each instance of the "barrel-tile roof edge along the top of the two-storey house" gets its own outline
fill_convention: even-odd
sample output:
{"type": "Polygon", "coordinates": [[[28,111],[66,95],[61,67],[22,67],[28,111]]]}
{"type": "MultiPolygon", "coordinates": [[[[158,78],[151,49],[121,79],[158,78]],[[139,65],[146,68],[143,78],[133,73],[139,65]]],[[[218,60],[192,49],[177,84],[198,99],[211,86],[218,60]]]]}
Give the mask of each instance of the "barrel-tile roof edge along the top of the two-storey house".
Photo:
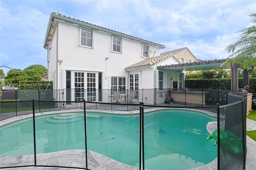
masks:
{"type": "MultiPolygon", "coordinates": [[[[128,34],[124,34],[124,33],[122,33],[122,32],[114,31],[114,30],[111,30],[111,29],[108,29],[108,28],[104,28],[104,27],[101,27],[101,26],[97,26],[97,25],[94,25],[94,24],[91,24],[91,23],[88,23],[88,22],[84,22],[84,21],[81,21],[81,20],[76,20],[75,18],[70,18],[70,17],[65,16],[65,15],[63,15],[63,14],[59,14],[58,12],[52,12],[52,14],[56,14],[56,15],[58,15],[58,16],[62,16],[62,17],[65,17],[65,18],[68,18],[68,19],[71,19],[71,20],[74,20],[74,21],[82,22],[82,23],[88,24],[88,25],[90,25],[90,26],[102,28],[102,29],[107,30],[107,31],[110,31],[110,32],[122,34],[122,35],[124,35],[124,36],[128,36],[128,37],[135,38],[135,39],[138,39],[138,40],[142,40],[142,41],[144,41],[144,42],[154,43],[154,42],[150,42],[150,41],[147,41],[147,40],[144,40],[144,39],[141,39],[141,38],[137,38],[137,37],[134,37],[134,36],[130,36],[130,35],[128,35],[128,34]]],[[[162,46],[163,48],[165,48],[165,46],[162,45],[162,44],[160,44],[160,43],[154,43],[154,44],[157,44],[157,45],[162,46]]]]}

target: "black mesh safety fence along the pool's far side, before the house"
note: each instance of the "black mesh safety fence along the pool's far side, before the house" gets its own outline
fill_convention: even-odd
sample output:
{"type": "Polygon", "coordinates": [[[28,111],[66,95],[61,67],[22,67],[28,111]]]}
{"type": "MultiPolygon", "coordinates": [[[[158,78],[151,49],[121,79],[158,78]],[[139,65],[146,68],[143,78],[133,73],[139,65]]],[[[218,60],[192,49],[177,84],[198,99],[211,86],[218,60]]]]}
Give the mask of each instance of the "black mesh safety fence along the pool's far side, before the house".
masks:
{"type": "MultiPolygon", "coordinates": [[[[204,106],[226,105],[227,93],[238,91],[212,89],[137,89],[119,91],[120,100],[115,100],[112,89],[59,89],[59,90],[15,90],[2,91],[0,100],[0,120],[17,115],[32,113],[32,99],[35,99],[35,111],[62,111],[83,109],[83,100],[88,109],[108,109],[120,111],[138,110],[133,104],[143,102],[148,107],[201,106],[203,109],[217,112],[204,106]],[[131,96],[135,94],[134,96],[131,96]],[[109,105],[111,103],[111,105],[109,105]],[[116,104],[122,105],[116,105],[116,104]],[[122,107],[120,107],[122,106],[122,107]]],[[[246,92],[247,93],[247,92],[246,92]]]]}

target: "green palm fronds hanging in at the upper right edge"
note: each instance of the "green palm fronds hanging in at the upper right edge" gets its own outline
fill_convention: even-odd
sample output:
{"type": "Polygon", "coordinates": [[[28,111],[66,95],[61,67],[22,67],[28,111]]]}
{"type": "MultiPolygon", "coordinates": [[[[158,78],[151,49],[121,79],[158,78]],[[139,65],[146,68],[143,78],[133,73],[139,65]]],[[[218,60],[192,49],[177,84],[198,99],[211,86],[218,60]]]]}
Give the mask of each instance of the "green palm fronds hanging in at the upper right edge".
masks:
{"type": "Polygon", "coordinates": [[[250,14],[252,26],[242,29],[240,39],[226,47],[226,52],[230,53],[226,63],[232,66],[238,64],[242,69],[247,69],[256,65],[256,13],[250,14]]]}

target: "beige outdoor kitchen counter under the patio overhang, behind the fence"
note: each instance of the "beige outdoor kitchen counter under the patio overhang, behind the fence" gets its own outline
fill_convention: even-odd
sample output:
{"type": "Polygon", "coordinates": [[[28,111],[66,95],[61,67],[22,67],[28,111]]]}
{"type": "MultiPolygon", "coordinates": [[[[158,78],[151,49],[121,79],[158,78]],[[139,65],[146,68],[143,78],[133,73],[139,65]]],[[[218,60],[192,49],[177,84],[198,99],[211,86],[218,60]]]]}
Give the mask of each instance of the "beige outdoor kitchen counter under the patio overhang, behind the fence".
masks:
{"type": "Polygon", "coordinates": [[[170,91],[174,103],[194,106],[205,106],[205,94],[208,91],[177,90],[170,91]]]}

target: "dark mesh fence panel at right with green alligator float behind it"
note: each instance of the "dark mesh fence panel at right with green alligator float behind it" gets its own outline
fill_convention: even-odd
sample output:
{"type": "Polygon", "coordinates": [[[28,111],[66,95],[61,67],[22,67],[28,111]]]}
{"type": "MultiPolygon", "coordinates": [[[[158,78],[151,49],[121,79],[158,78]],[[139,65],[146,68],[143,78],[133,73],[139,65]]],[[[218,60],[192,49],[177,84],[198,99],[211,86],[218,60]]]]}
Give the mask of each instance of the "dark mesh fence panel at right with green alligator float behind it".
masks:
{"type": "Polygon", "coordinates": [[[222,107],[224,121],[220,125],[220,169],[245,169],[246,160],[246,97],[227,93],[222,107]],[[232,103],[232,104],[230,104],[232,103]]]}

